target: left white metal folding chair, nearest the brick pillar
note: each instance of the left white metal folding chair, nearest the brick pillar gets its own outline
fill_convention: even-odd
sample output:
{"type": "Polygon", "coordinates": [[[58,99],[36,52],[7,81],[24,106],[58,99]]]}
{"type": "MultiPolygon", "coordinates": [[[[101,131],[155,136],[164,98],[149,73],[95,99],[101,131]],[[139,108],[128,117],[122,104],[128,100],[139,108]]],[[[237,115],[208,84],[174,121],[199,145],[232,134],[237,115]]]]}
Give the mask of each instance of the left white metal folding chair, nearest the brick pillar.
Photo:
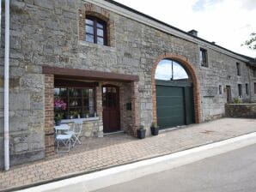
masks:
{"type": "Polygon", "coordinates": [[[63,131],[67,131],[70,129],[70,126],[67,124],[61,124],[59,126],[55,126],[55,141],[57,143],[56,152],[64,153],[70,152],[72,133],[62,133],[63,131]]]}

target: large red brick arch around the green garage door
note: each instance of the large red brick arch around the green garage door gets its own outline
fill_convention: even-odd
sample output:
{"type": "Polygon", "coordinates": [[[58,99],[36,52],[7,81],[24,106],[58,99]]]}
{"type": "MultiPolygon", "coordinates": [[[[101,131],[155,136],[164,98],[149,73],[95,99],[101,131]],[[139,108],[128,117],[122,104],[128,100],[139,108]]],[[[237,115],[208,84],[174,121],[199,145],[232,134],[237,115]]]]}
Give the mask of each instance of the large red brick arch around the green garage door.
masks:
{"type": "Polygon", "coordinates": [[[191,75],[192,83],[193,83],[193,94],[194,94],[194,109],[195,109],[195,122],[201,122],[201,107],[200,107],[200,90],[199,90],[199,81],[196,70],[192,66],[192,63],[188,61],[186,57],[173,54],[173,53],[165,53],[162,56],[158,57],[155,61],[153,68],[151,69],[151,85],[152,85],[152,102],[153,102],[153,121],[157,122],[157,114],[156,114],[156,93],[155,93],[155,69],[162,61],[162,59],[173,59],[179,62],[186,71],[191,75]]]}

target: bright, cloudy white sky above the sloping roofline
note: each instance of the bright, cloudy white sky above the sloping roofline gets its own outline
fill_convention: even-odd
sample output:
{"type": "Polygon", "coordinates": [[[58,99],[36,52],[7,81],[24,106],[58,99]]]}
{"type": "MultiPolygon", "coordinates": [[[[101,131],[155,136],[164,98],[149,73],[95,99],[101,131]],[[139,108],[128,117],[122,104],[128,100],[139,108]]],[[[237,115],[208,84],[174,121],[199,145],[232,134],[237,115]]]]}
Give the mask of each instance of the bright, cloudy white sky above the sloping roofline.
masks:
{"type": "Polygon", "coordinates": [[[115,0],[230,51],[256,57],[241,46],[256,33],[256,0],[115,0]]]}

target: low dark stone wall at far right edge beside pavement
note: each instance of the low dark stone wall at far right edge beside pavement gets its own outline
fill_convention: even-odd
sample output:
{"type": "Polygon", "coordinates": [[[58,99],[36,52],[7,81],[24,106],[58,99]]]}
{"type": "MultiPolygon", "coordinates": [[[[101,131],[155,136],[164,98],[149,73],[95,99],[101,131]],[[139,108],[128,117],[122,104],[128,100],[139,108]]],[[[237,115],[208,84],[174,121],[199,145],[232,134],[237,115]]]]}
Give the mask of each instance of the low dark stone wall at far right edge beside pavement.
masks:
{"type": "Polygon", "coordinates": [[[256,104],[225,105],[226,117],[256,118],[256,104]]]}

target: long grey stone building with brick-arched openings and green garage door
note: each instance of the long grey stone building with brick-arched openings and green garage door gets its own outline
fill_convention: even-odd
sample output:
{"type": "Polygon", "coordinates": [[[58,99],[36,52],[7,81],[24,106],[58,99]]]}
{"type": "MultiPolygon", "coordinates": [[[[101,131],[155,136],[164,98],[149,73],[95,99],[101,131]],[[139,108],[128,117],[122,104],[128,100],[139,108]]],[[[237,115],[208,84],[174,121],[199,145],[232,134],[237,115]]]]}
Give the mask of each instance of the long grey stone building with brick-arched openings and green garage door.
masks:
{"type": "Polygon", "coordinates": [[[256,101],[253,58],[112,0],[11,1],[9,59],[11,165],[54,153],[57,113],[84,118],[83,136],[136,136],[140,124],[201,123],[222,117],[233,98],[256,101]],[[54,108],[57,98],[65,110],[54,108]]]}

